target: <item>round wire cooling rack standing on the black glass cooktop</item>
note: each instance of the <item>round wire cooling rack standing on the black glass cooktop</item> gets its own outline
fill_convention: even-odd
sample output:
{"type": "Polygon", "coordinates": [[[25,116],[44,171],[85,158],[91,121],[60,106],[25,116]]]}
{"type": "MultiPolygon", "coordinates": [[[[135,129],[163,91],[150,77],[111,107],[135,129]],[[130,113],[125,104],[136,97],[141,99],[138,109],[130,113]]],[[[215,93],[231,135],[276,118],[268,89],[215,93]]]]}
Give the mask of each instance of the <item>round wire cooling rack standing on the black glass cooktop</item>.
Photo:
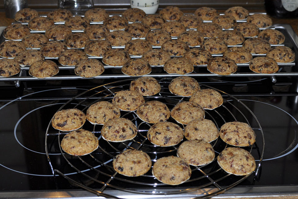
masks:
{"type": "MultiPolygon", "coordinates": [[[[133,79],[115,81],[93,89],[82,92],[61,106],[61,109],[77,108],[86,112],[88,107],[97,101],[110,101],[115,93],[120,90],[129,90],[130,82],[133,79]]],[[[172,79],[161,79],[161,90],[154,96],[144,96],[146,101],[159,100],[165,103],[171,110],[178,102],[188,101],[189,97],[173,95],[169,92],[168,86],[172,79]]],[[[200,84],[201,88],[211,88],[208,85],[200,84]]],[[[217,89],[215,89],[217,90],[217,89]]],[[[113,159],[120,152],[127,149],[137,149],[146,152],[154,162],[164,156],[176,156],[181,141],[176,146],[160,147],[155,146],[147,139],[147,131],[152,124],[143,122],[136,115],[136,111],[121,111],[121,117],[130,119],[138,128],[137,136],[133,140],[124,142],[110,142],[101,137],[102,125],[94,125],[86,121],[83,129],[89,130],[98,137],[99,148],[91,154],[84,156],[71,156],[66,154],[60,146],[63,135],[67,132],[60,132],[53,129],[51,121],[48,124],[45,150],[53,175],[61,175],[71,184],[93,192],[98,196],[119,198],[109,194],[108,190],[118,190],[134,194],[182,194],[196,191],[193,197],[203,198],[211,195],[223,193],[224,191],[236,186],[239,183],[253,185],[259,177],[260,166],[264,154],[264,135],[259,121],[254,113],[240,100],[223,91],[219,91],[224,98],[224,103],[213,110],[205,110],[205,118],[212,120],[220,128],[226,122],[241,121],[248,123],[256,132],[256,142],[249,147],[243,147],[248,150],[256,160],[256,169],[251,174],[245,176],[236,176],[226,173],[217,164],[217,156],[228,145],[220,138],[212,141],[210,144],[215,151],[215,159],[203,166],[191,166],[192,175],[189,180],[180,185],[167,185],[158,181],[151,174],[152,168],[144,175],[138,177],[127,177],[118,174],[113,169],[113,159]],[[58,157],[57,157],[58,156],[58,157]],[[208,191],[206,191],[208,190],[208,191]],[[198,193],[201,194],[198,194],[198,193]]],[[[57,111],[59,111],[57,110],[57,111]]],[[[54,115],[54,113],[53,113],[54,115]]],[[[184,125],[177,123],[173,118],[169,122],[178,124],[184,129],[184,125]]]]}

